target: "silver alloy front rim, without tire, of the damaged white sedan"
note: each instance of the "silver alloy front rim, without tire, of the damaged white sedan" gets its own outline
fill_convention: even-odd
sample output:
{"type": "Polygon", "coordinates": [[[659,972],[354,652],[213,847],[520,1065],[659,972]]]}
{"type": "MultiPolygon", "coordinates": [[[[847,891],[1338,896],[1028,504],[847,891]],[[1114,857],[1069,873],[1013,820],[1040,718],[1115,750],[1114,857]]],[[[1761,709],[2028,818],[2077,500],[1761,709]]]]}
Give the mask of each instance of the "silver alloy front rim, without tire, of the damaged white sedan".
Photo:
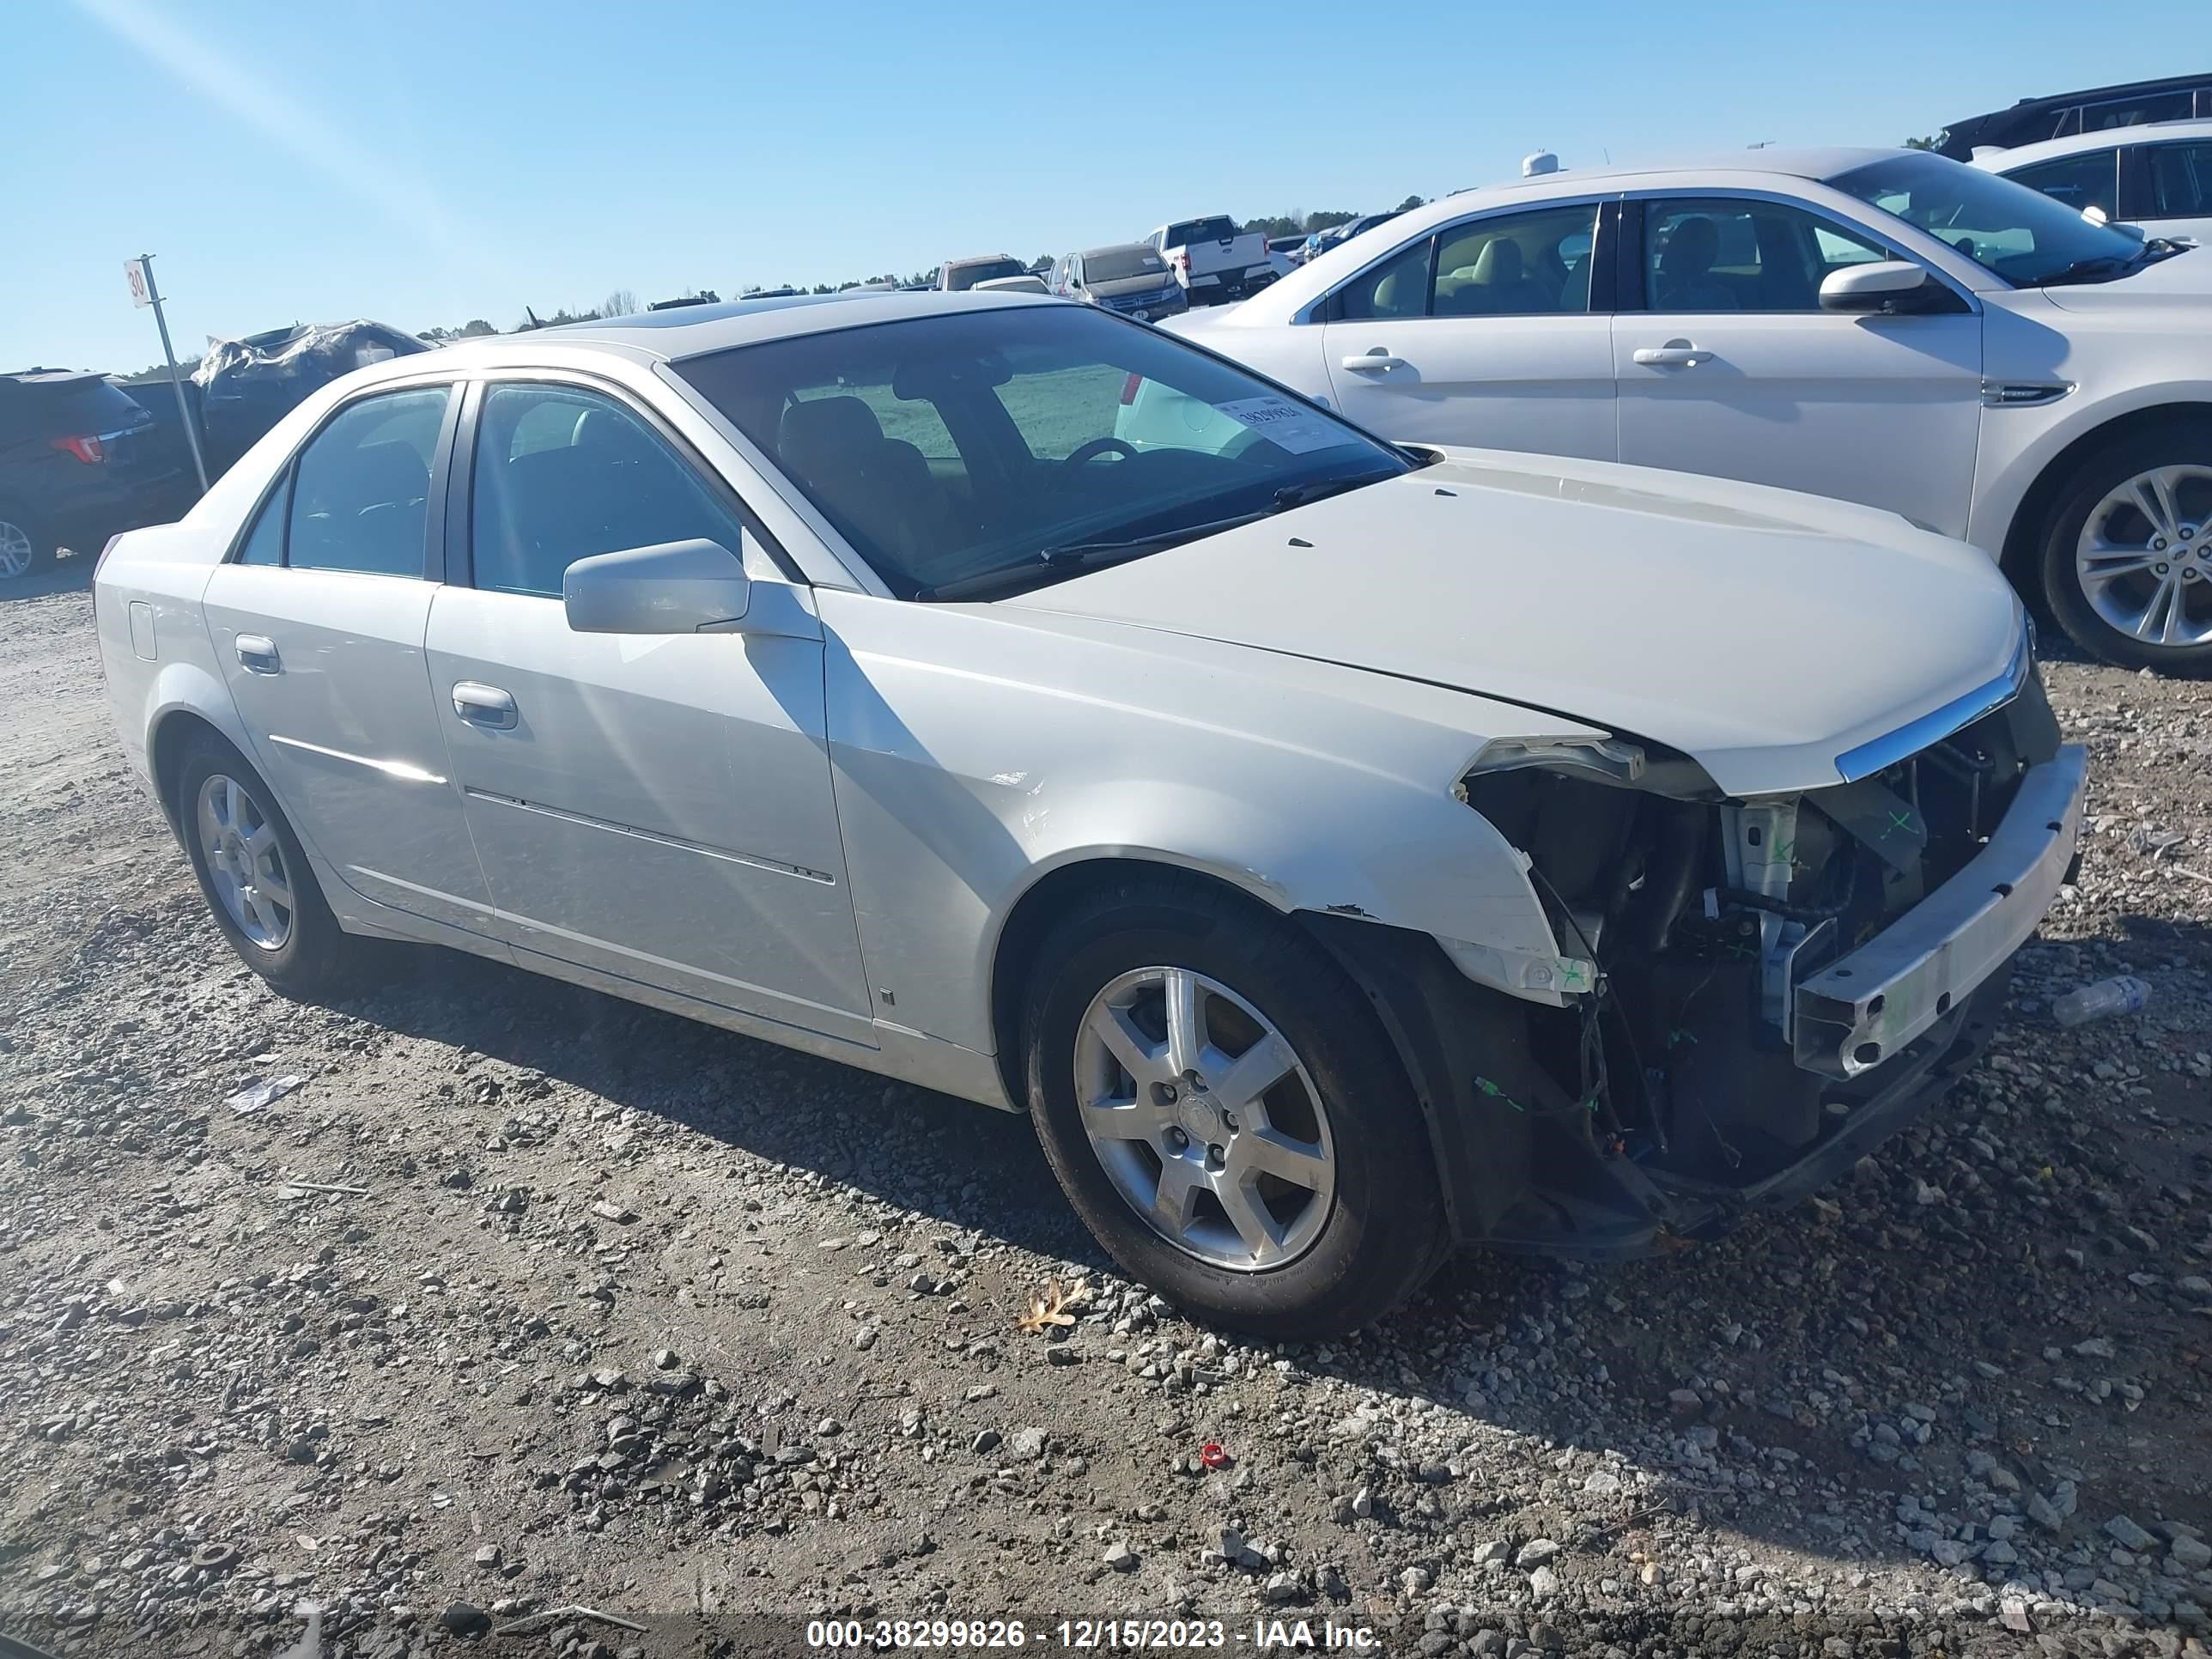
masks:
{"type": "Polygon", "coordinates": [[[1110,980],[1077,1029],[1075,1099],[1106,1179],[1175,1248],[1261,1272],[1325,1230],[1336,1150],[1321,1091],[1219,980],[1179,967],[1110,980]]]}

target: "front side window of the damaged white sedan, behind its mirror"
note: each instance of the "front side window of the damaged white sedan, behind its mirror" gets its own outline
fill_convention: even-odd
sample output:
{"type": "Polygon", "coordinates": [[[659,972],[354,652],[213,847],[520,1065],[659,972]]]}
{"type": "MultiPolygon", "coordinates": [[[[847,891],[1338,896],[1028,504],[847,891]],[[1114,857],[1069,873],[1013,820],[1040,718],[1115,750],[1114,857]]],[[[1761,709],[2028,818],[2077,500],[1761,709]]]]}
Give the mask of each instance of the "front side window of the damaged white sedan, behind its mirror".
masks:
{"type": "Polygon", "coordinates": [[[599,392],[484,392],[469,491],[473,584],[557,599],[577,560],[659,542],[741,544],[741,520],[637,414],[599,392]]]}

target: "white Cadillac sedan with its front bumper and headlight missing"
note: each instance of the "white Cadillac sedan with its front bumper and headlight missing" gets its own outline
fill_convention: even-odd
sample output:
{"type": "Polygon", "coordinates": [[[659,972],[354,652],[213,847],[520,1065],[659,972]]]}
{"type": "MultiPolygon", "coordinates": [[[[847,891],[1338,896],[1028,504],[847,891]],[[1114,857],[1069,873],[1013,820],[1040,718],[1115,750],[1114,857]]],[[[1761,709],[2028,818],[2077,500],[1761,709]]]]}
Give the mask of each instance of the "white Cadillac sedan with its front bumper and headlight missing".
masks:
{"type": "Polygon", "coordinates": [[[376,365],[95,606],[281,991],[431,940],[1026,1108],[1133,1274],[1267,1334],[1847,1168],[2081,812],[1962,542],[1394,449],[1046,299],[376,365]],[[1192,445],[1115,436],[1157,389],[1192,445]]]}

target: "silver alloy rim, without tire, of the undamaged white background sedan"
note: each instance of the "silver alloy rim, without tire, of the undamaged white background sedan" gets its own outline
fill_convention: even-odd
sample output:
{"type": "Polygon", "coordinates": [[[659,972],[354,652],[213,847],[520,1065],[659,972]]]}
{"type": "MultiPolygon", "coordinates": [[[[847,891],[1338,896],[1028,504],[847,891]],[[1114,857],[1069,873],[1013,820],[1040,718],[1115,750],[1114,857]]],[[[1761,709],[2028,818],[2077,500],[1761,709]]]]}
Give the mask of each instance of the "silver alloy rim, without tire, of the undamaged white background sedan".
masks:
{"type": "Polygon", "coordinates": [[[2075,542],[2090,608],[2148,646],[2212,641],[2212,467],[2152,467],[2110,489],[2075,542]]]}

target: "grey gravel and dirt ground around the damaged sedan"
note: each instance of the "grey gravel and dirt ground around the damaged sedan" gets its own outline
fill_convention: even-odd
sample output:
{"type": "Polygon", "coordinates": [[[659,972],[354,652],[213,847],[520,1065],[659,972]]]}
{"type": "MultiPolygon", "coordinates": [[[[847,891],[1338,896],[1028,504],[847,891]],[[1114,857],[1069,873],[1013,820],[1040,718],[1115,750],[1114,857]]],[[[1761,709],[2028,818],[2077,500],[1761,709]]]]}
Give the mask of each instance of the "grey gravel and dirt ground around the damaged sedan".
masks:
{"type": "Polygon", "coordinates": [[[0,602],[0,1630],[2212,1644],[2212,686],[2048,670],[2095,750],[2081,887],[1993,1053],[1851,1179],[1256,1349],[1121,1283],[1015,1117],[434,951],[270,995],[115,748],[77,564],[0,602]],[[2146,1013],[2051,1022],[2121,971],[2146,1013]],[[1018,1329],[1055,1276],[1073,1323],[1018,1329]]]}

